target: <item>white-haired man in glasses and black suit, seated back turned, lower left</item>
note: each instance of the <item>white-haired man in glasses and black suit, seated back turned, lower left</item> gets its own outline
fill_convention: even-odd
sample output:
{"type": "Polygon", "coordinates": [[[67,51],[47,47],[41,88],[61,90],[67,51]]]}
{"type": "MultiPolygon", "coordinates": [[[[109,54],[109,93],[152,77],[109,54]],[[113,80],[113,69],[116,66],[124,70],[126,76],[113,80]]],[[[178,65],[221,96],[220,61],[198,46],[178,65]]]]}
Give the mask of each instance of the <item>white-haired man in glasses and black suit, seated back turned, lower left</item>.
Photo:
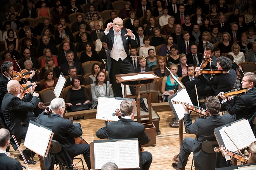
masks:
{"type": "MultiPolygon", "coordinates": [[[[73,124],[71,120],[62,118],[65,108],[64,100],[62,98],[55,98],[51,102],[52,114],[44,115],[43,112],[36,118],[35,122],[52,129],[54,133],[52,140],[58,141],[62,146],[61,152],[57,153],[57,155],[64,160],[67,167],[73,164],[75,156],[83,154],[87,167],[90,169],[90,145],[75,143],[74,138],[82,136],[83,131],[80,123],[73,124]]],[[[45,169],[53,170],[54,165],[52,165],[49,158],[50,156],[45,159],[45,169]]]]}

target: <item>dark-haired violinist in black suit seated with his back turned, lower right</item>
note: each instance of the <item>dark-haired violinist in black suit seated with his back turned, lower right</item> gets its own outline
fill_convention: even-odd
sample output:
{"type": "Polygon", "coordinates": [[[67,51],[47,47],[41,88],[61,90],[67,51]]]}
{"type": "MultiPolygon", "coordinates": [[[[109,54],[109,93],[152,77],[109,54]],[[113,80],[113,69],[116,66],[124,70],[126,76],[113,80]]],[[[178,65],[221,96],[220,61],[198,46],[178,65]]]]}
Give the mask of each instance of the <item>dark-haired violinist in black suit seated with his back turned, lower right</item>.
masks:
{"type": "Polygon", "coordinates": [[[185,110],[184,125],[185,131],[189,134],[195,134],[196,137],[187,137],[183,140],[182,146],[179,153],[179,162],[173,163],[175,169],[185,169],[189,155],[191,152],[194,154],[194,162],[196,170],[214,170],[216,167],[224,167],[222,155],[217,155],[217,165],[215,164],[215,153],[210,154],[202,150],[202,142],[209,140],[215,141],[216,138],[213,133],[214,128],[218,128],[225,124],[232,122],[232,116],[230,114],[223,114],[220,116],[220,102],[214,96],[210,96],[206,100],[206,110],[209,112],[207,119],[195,119],[192,123],[191,115],[189,110],[183,104],[185,110]]]}

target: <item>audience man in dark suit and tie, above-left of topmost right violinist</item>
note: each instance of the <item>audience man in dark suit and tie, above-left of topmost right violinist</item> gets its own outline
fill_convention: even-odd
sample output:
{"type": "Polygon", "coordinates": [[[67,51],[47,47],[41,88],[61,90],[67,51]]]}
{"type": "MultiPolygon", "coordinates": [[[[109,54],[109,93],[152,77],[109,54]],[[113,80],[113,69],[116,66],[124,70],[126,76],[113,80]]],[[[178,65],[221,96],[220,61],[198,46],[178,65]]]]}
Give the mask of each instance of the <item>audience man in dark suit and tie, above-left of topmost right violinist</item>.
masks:
{"type": "Polygon", "coordinates": [[[188,54],[190,53],[190,46],[195,45],[195,41],[190,40],[188,31],[183,32],[183,40],[179,43],[179,53],[188,54]]]}

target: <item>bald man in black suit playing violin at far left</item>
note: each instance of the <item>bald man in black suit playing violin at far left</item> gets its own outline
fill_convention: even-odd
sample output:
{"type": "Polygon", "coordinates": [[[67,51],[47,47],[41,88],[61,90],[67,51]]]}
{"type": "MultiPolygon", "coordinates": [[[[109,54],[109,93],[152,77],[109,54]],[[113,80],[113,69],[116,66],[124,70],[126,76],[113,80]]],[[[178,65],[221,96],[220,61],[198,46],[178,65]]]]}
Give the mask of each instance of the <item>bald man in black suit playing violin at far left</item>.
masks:
{"type": "MultiPolygon", "coordinates": [[[[20,84],[17,80],[10,80],[7,84],[8,93],[3,97],[2,102],[2,111],[6,123],[6,128],[9,130],[10,135],[15,135],[18,144],[21,144],[21,139],[25,139],[27,130],[28,130],[28,112],[27,110],[34,110],[40,100],[38,99],[39,94],[33,93],[36,87],[36,83],[31,83],[30,92],[31,95],[26,95],[22,100],[17,97],[20,93],[20,84]]],[[[11,145],[14,150],[17,150],[17,146],[11,137],[11,145]]],[[[23,151],[25,159],[28,164],[36,163],[35,161],[29,158],[30,151],[28,149],[23,151]]],[[[32,152],[32,156],[35,156],[35,153],[32,152]]],[[[21,155],[19,156],[20,160],[23,160],[21,155]]]]}

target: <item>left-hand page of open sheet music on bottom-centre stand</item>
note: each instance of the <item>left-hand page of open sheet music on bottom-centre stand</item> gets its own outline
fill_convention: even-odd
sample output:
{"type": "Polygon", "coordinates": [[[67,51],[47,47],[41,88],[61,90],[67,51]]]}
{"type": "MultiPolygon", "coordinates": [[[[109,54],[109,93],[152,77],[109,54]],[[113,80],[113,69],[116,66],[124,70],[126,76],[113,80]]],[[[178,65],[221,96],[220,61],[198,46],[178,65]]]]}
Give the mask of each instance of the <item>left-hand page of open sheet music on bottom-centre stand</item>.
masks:
{"type": "Polygon", "coordinates": [[[116,163],[115,142],[94,143],[94,169],[101,169],[107,162],[116,163]]]}

